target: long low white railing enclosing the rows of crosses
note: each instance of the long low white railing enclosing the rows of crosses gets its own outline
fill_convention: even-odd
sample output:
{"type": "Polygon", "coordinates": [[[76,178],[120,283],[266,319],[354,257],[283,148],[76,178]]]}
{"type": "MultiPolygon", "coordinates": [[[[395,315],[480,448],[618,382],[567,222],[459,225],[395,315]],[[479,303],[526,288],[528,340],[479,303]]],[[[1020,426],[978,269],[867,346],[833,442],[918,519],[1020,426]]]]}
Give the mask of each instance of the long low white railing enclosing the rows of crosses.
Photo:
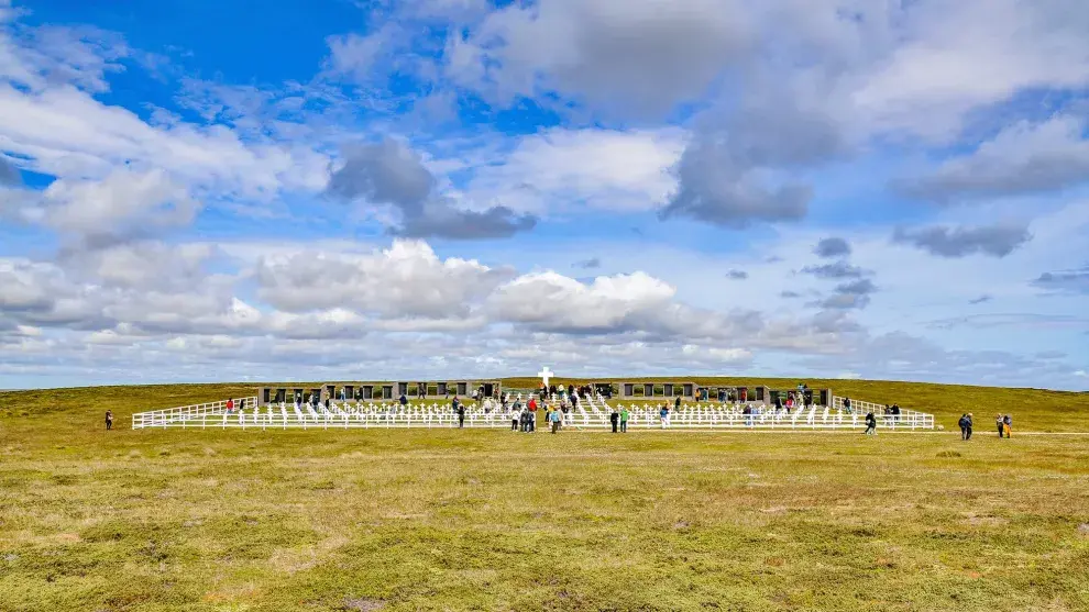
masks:
{"type": "MultiPolygon", "coordinates": [[[[133,415],[133,429],[182,427],[182,429],[382,429],[382,427],[458,427],[458,415],[447,403],[438,404],[384,404],[384,403],[340,403],[332,402],[330,409],[323,405],[309,407],[294,404],[268,404],[255,407],[253,398],[245,398],[246,409],[227,412],[226,401],[197,404],[177,409],[158,410],[133,415]]],[[[235,407],[240,400],[234,400],[235,407]]],[[[617,404],[619,410],[623,403],[617,404]]],[[[866,427],[866,412],[862,402],[853,414],[825,407],[799,409],[792,413],[776,411],[773,407],[762,407],[752,414],[745,414],[739,407],[723,408],[717,403],[688,404],[681,411],[670,411],[668,427],[673,430],[771,430],[771,431],[861,431],[866,427]]],[[[873,404],[877,405],[877,404],[873,404]]],[[[464,426],[468,429],[514,429],[516,413],[504,411],[495,405],[485,410],[477,404],[466,404],[464,426]]],[[[661,429],[661,418],[657,407],[628,404],[628,427],[636,430],[661,429]]],[[[867,408],[866,410],[869,410],[867,408]]],[[[931,414],[903,411],[899,418],[883,414],[878,416],[878,427],[892,431],[917,431],[934,429],[931,414]]],[[[612,407],[604,400],[583,399],[578,409],[569,410],[563,416],[564,426],[578,430],[607,430],[612,426],[612,407]]],[[[536,413],[537,427],[549,426],[543,421],[543,410],[536,413]]],[[[517,425],[520,429],[520,423],[517,425]]]]}

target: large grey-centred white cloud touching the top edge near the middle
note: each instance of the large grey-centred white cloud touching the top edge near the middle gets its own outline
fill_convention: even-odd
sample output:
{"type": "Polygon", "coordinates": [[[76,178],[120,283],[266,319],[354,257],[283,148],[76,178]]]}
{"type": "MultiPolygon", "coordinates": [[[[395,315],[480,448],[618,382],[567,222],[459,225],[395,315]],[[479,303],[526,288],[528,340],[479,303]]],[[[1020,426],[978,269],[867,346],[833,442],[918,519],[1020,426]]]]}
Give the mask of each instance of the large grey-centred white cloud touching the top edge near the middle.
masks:
{"type": "Polygon", "coordinates": [[[498,101],[559,89],[598,107],[661,113],[703,94],[745,53],[751,29],[734,4],[515,3],[468,36],[452,34],[447,71],[498,101]]]}

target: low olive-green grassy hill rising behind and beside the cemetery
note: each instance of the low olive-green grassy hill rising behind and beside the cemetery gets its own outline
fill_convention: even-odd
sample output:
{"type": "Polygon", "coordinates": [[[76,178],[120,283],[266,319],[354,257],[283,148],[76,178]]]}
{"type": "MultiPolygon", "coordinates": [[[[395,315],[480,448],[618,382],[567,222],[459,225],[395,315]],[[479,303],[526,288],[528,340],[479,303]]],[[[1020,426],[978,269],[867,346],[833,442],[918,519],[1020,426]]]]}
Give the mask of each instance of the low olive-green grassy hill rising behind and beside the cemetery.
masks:
{"type": "MultiPolygon", "coordinates": [[[[777,389],[794,387],[799,380],[781,378],[708,378],[708,377],[629,377],[593,379],[594,381],[693,381],[697,385],[757,386],[777,389]]],[[[588,379],[557,378],[557,383],[579,385],[588,379]]],[[[285,387],[317,386],[322,381],[283,383],[285,387]]],[[[1011,413],[1021,431],[1087,432],[1089,431],[1089,393],[1048,391],[1042,389],[1009,389],[999,387],[971,387],[961,385],[933,385],[927,382],[898,382],[881,380],[822,380],[806,379],[814,389],[832,389],[837,396],[877,403],[899,403],[903,408],[930,412],[946,429],[956,429],[957,420],[965,412],[972,412],[977,422],[988,426],[998,412],[1011,413]]],[[[508,378],[504,386],[534,388],[536,378],[508,378]]],[[[142,385],[123,387],[88,387],[76,389],[50,389],[0,392],[0,419],[11,419],[52,413],[86,415],[87,423],[97,425],[107,410],[112,410],[119,424],[133,412],[172,408],[215,401],[228,397],[252,396],[260,383],[215,385],[142,385]]],[[[277,383],[268,383],[277,385],[277,383]]]]}

